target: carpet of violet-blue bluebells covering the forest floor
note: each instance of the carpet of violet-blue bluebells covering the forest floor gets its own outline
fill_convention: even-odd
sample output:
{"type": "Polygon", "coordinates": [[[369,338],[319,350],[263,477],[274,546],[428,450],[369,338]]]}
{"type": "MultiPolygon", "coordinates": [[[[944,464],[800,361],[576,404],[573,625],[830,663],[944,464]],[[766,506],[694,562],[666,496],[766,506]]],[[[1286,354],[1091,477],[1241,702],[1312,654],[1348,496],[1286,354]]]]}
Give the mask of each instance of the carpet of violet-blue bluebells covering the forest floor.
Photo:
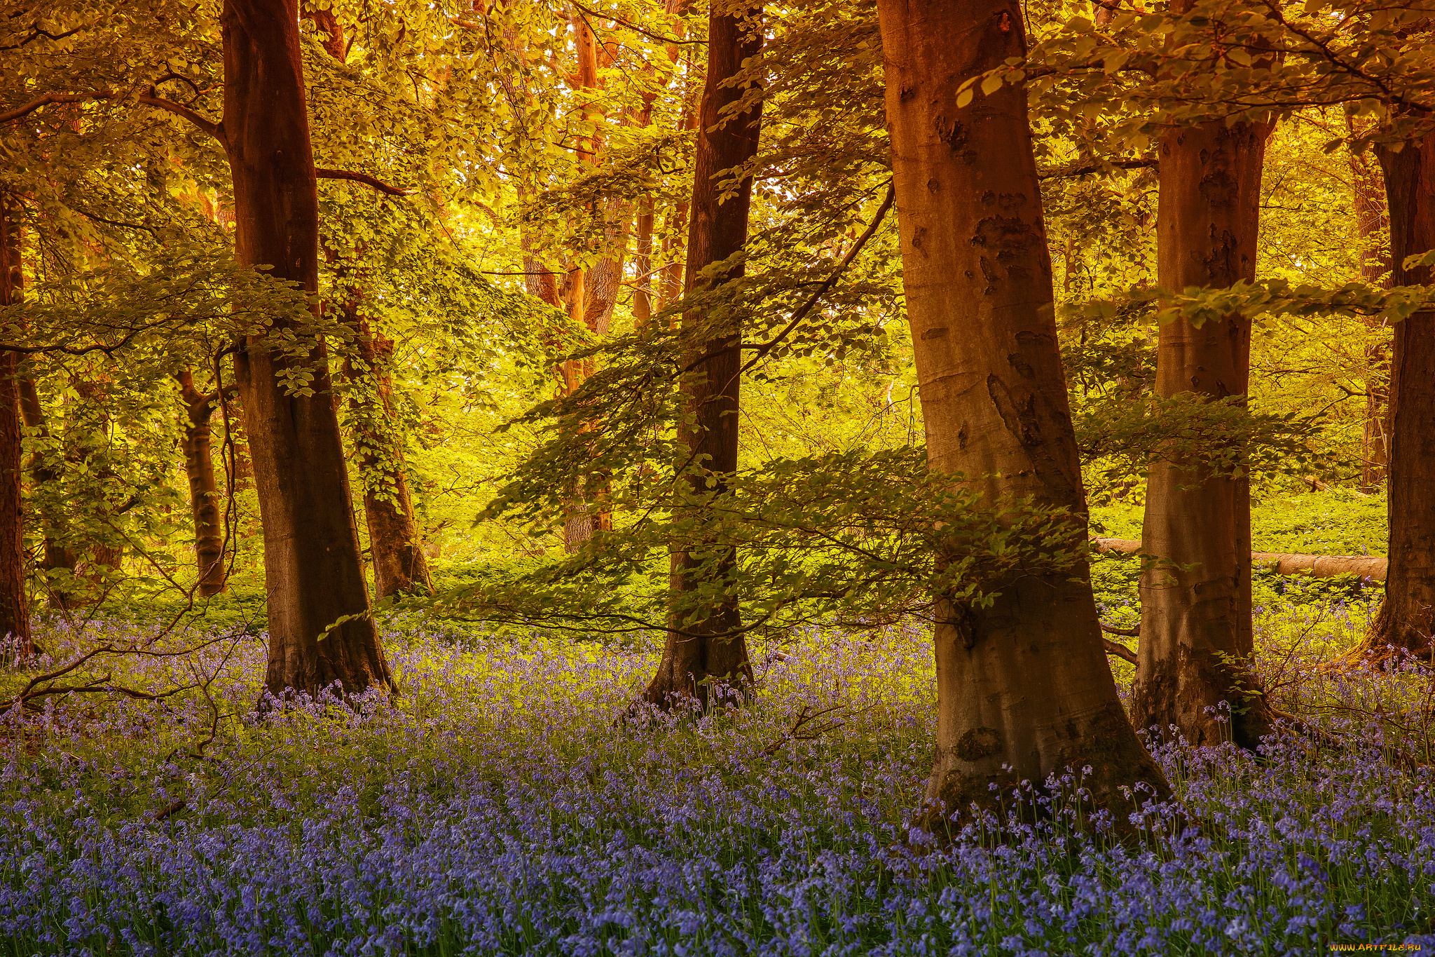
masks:
{"type": "MultiPolygon", "coordinates": [[[[1036,824],[908,826],[934,720],[916,630],[759,649],[755,700],[707,715],[630,709],[647,646],[393,627],[402,696],[263,719],[255,637],[125,659],[115,683],[207,690],[0,719],[0,950],[1431,953],[1431,676],[1322,667],[1362,614],[1261,617],[1273,697],[1339,746],[1155,743],[1177,798],[1125,844],[1071,826],[1071,776],[1036,824]]],[[[125,628],[42,640],[63,660],[125,628]]]]}

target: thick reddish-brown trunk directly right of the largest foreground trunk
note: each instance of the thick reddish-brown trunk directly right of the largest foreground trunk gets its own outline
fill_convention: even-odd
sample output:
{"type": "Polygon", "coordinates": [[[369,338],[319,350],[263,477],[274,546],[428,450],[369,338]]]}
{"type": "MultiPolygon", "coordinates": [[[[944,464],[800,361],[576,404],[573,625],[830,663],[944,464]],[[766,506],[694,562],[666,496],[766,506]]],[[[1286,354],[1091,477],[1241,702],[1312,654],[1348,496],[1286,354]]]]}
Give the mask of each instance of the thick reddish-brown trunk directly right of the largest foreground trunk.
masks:
{"type": "MultiPolygon", "coordinates": [[[[1207,123],[1161,138],[1157,278],[1171,290],[1256,275],[1260,176],[1270,126],[1207,123]]],[[[1155,392],[1244,396],[1250,319],[1161,326],[1155,392]]],[[[1178,459],[1151,465],[1142,541],[1138,727],[1175,725],[1194,745],[1254,748],[1270,712],[1241,663],[1251,641],[1250,484],[1178,459]],[[1215,709],[1231,709],[1227,729],[1215,709]]]]}

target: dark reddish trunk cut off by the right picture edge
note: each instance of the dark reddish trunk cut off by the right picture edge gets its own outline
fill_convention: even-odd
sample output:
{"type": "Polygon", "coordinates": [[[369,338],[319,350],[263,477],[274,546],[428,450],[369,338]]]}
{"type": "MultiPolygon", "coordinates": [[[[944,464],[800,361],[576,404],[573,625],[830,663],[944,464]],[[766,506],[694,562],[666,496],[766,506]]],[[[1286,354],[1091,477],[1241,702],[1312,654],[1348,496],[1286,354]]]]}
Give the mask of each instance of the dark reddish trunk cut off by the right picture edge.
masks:
{"type": "MultiPolygon", "coordinates": [[[[1378,146],[1391,209],[1396,286],[1424,286],[1432,270],[1405,257],[1435,248],[1435,133],[1393,152],[1378,146]]],[[[1358,653],[1393,646],[1429,654],[1435,630],[1435,311],[1395,326],[1389,416],[1389,571],[1385,601],[1358,653]]]]}

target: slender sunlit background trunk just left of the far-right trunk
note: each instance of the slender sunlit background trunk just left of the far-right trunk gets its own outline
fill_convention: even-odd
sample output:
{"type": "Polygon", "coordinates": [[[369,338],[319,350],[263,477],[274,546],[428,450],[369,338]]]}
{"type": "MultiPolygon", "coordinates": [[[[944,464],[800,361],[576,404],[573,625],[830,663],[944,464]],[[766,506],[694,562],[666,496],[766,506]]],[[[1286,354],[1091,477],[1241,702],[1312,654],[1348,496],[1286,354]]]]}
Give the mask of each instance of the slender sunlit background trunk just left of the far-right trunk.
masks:
{"type": "MultiPolygon", "coordinates": [[[[1391,286],[1391,215],[1379,162],[1369,152],[1350,154],[1356,231],[1360,235],[1360,278],[1370,286],[1391,286]]],[[[1375,320],[1366,319],[1366,323],[1375,320]]],[[[1375,329],[1376,326],[1372,326],[1375,329]]],[[[1391,347],[1376,341],[1365,349],[1365,435],[1360,440],[1360,488],[1379,491],[1389,459],[1386,415],[1391,395],[1391,347]]]]}

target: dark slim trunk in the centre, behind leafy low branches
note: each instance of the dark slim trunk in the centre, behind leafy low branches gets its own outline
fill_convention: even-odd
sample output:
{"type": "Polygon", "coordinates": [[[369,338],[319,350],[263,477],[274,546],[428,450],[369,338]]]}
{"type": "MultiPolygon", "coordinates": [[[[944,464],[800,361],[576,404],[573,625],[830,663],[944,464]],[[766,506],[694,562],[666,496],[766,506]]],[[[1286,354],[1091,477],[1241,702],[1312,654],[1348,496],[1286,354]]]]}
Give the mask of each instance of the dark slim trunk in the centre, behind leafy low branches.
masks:
{"type": "MultiPolygon", "coordinates": [[[[748,209],[752,202],[752,179],[743,179],[738,192],[719,201],[719,181],[723,171],[746,162],[758,152],[762,108],[733,115],[723,122],[722,109],[742,98],[742,88],[723,88],[722,82],[736,76],[743,59],[756,56],[762,46],[758,33],[761,10],[748,9],[743,17],[723,16],[716,10],[707,17],[707,86],[703,92],[702,123],[697,154],[693,161],[692,222],[687,232],[687,290],[699,281],[699,273],[739,251],[748,238],[748,209]],[[722,126],[719,128],[719,123],[722,126]]],[[[738,278],[742,267],[729,270],[713,280],[720,286],[738,278]]],[[[689,326],[699,326],[703,317],[683,317],[689,326]]],[[[686,412],[690,425],[680,426],[679,471],[697,463],[716,476],[716,491],[723,488],[723,476],[738,469],[738,370],[742,357],[738,346],[742,330],[703,343],[689,360],[710,356],[693,367],[696,376],[683,383],[686,412]]],[[[695,494],[709,491],[706,475],[693,475],[695,494]]],[[[736,561],[729,554],[713,567],[703,567],[695,552],[677,552],[672,558],[673,590],[692,591],[712,577],[722,577],[736,561]]],[[[740,634],[742,618],[738,598],[730,595],[718,607],[702,613],[672,614],[663,659],[649,684],[646,700],[669,704],[674,699],[696,696],[705,706],[712,696],[713,682],[746,686],[752,680],[748,643],[740,634]],[[709,680],[710,679],[710,680],[709,680]]]]}

